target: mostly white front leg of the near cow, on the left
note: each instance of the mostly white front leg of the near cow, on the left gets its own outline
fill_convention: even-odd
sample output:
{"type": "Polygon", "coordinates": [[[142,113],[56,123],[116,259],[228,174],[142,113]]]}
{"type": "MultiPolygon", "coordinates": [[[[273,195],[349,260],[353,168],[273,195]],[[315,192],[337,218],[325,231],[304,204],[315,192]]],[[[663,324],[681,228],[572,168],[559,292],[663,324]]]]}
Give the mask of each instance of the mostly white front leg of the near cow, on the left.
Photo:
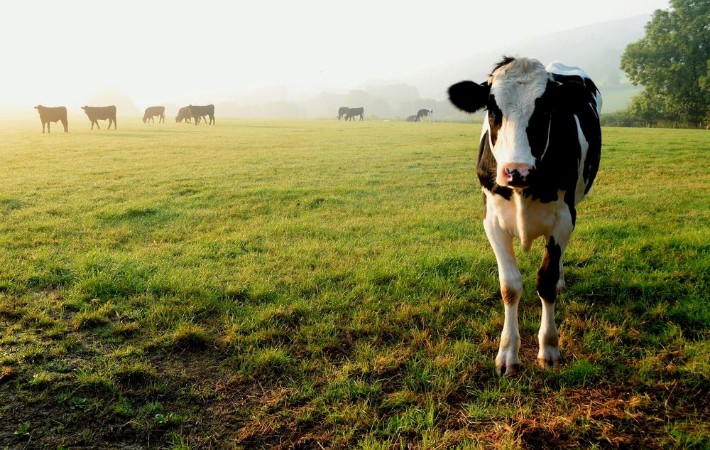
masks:
{"type": "Polygon", "coordinates": [[[515,261],[513,237],[503,230],[494,214],[487,214],[483,221],[488,240],[498,262],[500,293],[503,297],[505,319],[496,356],[498,375],[514,375],[520,369],[520,330],[518,329],[518,303],[523,293],[523,280],[515,261]]]}

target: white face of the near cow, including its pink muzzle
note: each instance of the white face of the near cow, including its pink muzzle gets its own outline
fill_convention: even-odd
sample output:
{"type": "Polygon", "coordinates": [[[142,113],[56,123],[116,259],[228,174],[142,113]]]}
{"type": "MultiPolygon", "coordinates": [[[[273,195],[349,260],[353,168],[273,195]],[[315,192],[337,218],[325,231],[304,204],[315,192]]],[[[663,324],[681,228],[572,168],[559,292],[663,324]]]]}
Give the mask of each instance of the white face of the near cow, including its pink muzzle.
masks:
{"type": "MultiPolygon", "coordinates": [[[[488,78],[488,120],[484,120],[482,136],[489,140],[497,164],[496,183],[501,186],[525,186],[528,175],[535,169],[534,153],[540,154],[540,149],[533,152],[531,138],[535,146],[547,145],[547,136],[529,134],[536,102],[545,92],[547,82],[545,67],[531,59],[518,59],[499,67],[488,78]],[[542,139],[544,143],[540,142],[542,139]]],[[[536,116],[540,114],[544,113],[538,111],[536,116]]],[[[534,130],[541,131],[539,124],[534,130]]],[[[549,120],[544,130],[549,130],[549,120]]]]}

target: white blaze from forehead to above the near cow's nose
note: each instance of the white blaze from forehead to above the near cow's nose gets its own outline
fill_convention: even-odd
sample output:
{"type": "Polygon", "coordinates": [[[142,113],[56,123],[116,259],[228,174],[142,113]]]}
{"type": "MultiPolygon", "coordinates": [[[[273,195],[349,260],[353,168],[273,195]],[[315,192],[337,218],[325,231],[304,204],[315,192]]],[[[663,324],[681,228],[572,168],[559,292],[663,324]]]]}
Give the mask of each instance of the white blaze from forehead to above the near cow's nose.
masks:
{"type": "MultiPolygon", "coordinates": [[[[535,166],[526,128],[535,110],[535,100],[545,92],[547,79],[542,63],[525,58],[499,68],[489,78],[491,94],[503,112],[496,145],[491,146],[499,168],[508,163],[535,166]]],[[[498,180],[498,184],[506,183],[498,180]]]]}

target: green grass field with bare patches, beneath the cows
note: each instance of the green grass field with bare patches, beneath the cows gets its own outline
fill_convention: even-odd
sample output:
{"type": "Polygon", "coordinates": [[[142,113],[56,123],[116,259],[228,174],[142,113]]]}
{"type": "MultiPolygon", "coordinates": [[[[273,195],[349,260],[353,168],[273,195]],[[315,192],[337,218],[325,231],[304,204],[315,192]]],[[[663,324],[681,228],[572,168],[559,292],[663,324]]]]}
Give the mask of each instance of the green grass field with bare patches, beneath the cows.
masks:
{"type": "Polygon", "coordinates": [[[710,132],[604,129],[564,365],[537,242],[499,378],[479,125],[40,127],[0,126],[0,448],[710,446],[710,132]]]}

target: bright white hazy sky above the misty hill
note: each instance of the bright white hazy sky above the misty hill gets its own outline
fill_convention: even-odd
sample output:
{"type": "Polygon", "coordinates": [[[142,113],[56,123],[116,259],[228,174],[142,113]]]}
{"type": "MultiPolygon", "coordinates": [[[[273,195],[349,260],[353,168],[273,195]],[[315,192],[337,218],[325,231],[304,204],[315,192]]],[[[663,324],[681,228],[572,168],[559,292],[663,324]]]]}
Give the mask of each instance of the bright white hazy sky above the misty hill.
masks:
{"type": "Polygon", "coordinates": [[[216,103],[274,85],[349,90],[668,8],[668,0],[17,0],[0,15],[0,106],[82,105],[105,89],[139,107],[216,103]]]}

